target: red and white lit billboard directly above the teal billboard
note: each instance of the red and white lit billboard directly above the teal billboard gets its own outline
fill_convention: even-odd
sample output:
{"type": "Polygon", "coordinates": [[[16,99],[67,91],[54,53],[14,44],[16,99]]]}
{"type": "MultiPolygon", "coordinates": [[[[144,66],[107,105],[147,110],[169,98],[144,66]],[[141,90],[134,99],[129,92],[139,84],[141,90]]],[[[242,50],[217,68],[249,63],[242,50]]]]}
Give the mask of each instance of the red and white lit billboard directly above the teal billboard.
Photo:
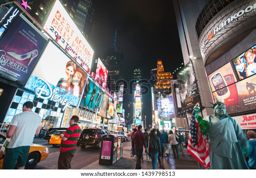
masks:
{"type": "Polygon", "coordinates": [[[95,59],[91,66],[91,74],[102,88],[107,88],[108,69],[102,63],[100,58],[95,59]]]}

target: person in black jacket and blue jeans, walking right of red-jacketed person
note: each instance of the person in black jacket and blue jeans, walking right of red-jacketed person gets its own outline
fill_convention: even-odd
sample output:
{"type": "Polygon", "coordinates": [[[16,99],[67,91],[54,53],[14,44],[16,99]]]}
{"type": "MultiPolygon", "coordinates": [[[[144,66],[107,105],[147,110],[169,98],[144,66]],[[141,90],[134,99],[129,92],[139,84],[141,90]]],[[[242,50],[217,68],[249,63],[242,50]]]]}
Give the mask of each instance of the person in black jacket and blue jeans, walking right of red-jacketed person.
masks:
{"type": "Polygon", "coordinates": [[[162,158],[160,139],[157,136],[157,129],[152,129],[149,134],[148,151],[152,161],[152,169],[157,169],[157,159],[162,158]]]}

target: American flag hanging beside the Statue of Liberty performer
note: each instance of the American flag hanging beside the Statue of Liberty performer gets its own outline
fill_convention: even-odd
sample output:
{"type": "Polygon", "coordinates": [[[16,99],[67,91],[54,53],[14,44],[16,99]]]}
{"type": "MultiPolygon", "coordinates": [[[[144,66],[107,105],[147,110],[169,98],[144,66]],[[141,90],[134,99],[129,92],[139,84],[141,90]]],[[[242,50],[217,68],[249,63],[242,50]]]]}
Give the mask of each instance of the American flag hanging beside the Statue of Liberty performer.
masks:
{"type": "Polygon", "coordinates": [[[209,144],[204,138],[198,121],[193,111],[190,123],[189,143],[187,151],[192,155],[203,167],[210,167],[209,144]]]}

